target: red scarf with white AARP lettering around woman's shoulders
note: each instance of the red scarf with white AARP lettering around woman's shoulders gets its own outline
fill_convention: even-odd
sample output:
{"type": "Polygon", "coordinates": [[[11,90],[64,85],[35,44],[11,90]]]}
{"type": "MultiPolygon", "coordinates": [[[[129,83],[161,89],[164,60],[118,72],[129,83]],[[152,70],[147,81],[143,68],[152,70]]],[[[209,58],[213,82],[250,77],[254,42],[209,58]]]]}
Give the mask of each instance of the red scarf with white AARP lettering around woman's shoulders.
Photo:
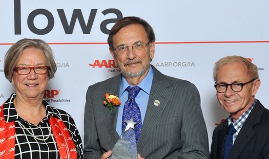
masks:
{"type": "MultiPolygon", "coordinates": [[[[4,104],[0,108],[0,158],[10,159],[15,157],[15,122],[6,123],[3,107],[4,104]]],[[[65,123],[53,116],[50,117],[49,123],[60,158],[77,158],[76,146],[65,123]]]]}

